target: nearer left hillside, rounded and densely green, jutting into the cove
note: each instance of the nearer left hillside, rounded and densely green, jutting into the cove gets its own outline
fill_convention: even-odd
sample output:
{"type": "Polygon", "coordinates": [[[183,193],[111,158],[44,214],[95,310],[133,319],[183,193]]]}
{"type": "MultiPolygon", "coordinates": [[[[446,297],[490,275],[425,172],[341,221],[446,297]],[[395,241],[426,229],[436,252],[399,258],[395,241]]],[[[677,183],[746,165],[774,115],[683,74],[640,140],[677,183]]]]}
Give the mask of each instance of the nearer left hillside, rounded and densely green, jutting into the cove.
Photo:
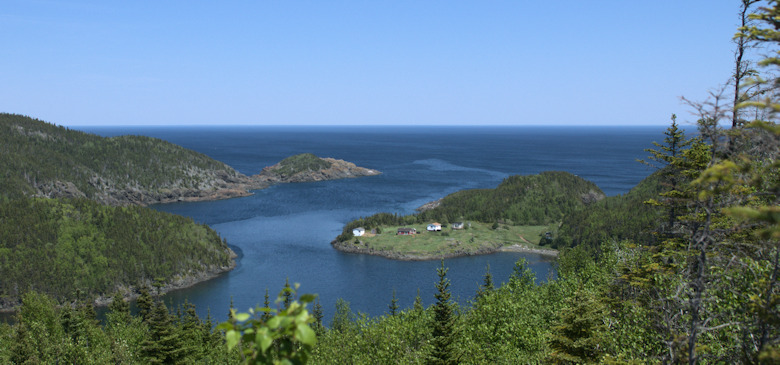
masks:
{"type": "Polygon", "coordinates": [[[0,309],[28,291],[68,301],[159,281],[191,284],[232,268],[232,251],[192,219],[87,199],[0,201],[0,309]]]}

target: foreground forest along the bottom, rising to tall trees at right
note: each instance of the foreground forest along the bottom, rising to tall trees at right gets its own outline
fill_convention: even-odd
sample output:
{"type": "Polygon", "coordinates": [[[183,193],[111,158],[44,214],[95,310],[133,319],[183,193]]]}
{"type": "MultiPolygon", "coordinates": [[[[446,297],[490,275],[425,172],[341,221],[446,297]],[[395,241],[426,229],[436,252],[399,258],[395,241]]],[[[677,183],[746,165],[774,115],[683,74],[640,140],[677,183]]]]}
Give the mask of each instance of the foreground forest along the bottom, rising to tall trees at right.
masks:
{"type": "Polygon", "coordinates": [[[138,315],[116,300],[104,325],[89,304],[57,307],[30,292],[18,322],[0,325],[0,362],[780,363],[780,0],[756,3],[740,2],[735,54],[759,46],[772,57],[736,57],[731,95],[691,103],[699,137],[685,136],[673,117],[648,150],[646,162],[659,169],[648,186],[561,228],[572,240],[562,247],[580,244],[563,247],[555,280],[535,283],[520,261],[498,284],[486,268],[461,307],[442,262],[427,308],[419,300],[399,308],[388,293],[383,316],[339,301],[324,324],[313,295],[286,287],[275,304],[231,310],[216,328],[148,291],[138,315]],[[627,212],[639,201],[654,207],[654,222],[630,222],[622,240],[574,229],[613,229],[622,216],[610,206],[627,212]]]}

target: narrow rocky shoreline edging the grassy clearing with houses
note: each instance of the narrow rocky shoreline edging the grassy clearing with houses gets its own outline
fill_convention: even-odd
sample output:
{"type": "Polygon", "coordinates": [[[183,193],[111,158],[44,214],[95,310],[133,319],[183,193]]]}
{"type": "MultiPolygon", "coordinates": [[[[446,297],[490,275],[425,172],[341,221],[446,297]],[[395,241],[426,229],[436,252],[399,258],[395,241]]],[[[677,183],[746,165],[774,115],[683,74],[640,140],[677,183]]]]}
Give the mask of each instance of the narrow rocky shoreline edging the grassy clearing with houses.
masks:
{"type": "Polygon", "coordinates": [[[547,255],[547,256],[558,256],[558,251],[556,250],[546,250],[546,249],[524,247],[520,245],[501,245],[501,244],[494,244],[492,246],[481,247],[475,251],[459,250],[459,251],[453,251],[453,252],[447,252],[447,253],[441,253],[435,255],[427,255],[427,254],[415,255],[411,253],[402,253],[396,251],[374,250],[373,248],[355,245],[350,242],[338,242],[336,240],[331,241],[330,244],[331,246],[333,246],[334,249],[341,252],[381,256],[387,259],[399,260],[399,261],[443,260],[443,259],[462,257],[462,256],[489,255],[496,252],[528,252],[528,253],[536,253],[536,254],[547,255]]]}

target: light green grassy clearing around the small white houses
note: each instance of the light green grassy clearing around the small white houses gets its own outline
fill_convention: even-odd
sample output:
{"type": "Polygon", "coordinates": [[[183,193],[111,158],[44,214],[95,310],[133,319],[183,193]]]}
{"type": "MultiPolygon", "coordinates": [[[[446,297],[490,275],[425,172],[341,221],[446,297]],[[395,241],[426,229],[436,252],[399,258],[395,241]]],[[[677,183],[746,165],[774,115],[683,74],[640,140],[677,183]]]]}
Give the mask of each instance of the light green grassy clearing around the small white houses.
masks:
{"type": "MultiPolygon", "coordinates": [[[[468,224],[467,224],[468,225],[468,224]]],[[[427,225],[403,226],[417,229],[417,235],[396,235],[402,226],[383,226],[381,234],[366,232],[365,236],[355,237],[359,245],[377,251],[391,251],[408,255],[440,255],[447,253],[476,253],[487,248],[505,245],[522,245],[528,248],[540,248],[541,234],[549,230],[548,226],[508,226],[500,225],[492,229],[491,223],[471,222],[471,227],[453,230],[442,228],[440,232],[426,231],[427,225]]],[[[353,241],[354,242],[354,241],[353,241]]]]}

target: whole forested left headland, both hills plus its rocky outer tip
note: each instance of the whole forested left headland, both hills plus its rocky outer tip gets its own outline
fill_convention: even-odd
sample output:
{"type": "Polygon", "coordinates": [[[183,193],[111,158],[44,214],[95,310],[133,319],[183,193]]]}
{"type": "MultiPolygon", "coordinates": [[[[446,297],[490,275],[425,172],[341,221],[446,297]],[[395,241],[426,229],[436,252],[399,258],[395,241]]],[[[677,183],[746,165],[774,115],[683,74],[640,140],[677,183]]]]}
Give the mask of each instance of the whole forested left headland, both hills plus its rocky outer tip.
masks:
{"type": "Polygon", "coordinates": [[[236,266],[210,227],[144,206],[246,196],[278,183],[379,174],[302,154],[246,176],[142,136],[101,137],[0,113],[0,311],[34,288],[61,303],[158,293],[236,266]]]}

